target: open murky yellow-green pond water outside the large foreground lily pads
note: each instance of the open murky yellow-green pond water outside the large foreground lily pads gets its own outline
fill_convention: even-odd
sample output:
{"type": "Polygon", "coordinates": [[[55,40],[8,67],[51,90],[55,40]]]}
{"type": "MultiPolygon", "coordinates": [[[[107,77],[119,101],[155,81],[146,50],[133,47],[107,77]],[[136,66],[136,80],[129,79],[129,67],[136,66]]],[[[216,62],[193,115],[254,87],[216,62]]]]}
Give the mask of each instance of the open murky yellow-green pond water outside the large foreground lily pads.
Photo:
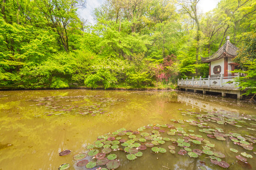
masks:
{"type": "MultiPolygon", "coordinates": [[[[84,152],[85,145],[92,144],[97,136],[122,127],[136,130],[152,123],[167,124],[170,119],[190,119],[180,114],[178,109],[256,114],[255,105],[252,103],[237,103],[237,100],[195,93],[77,89],[4,91],[0,95],[0,168],[53,170],[63,163],[76,164],[73,155],[84,152]],[[83,100],[80,100],[81,97],[77,100],[77,96],[85,97],[83,100]],[[61,109],[65,110],[50,107],[53,110],[49,111],[46,106],[51,103],[37,105],[34,100],[38,98],[49,99],[48,102],[52,105],[61,106],[61,109]],[[125,99],[127,102],[118,102],[119,99],[125,99]],[[104,114],[79,114],[80,109],[99,110],[99,105],[94,105],[99,104],[98,102],[105,106],[104,114]],[[88,108],[89,106],[92,107],[88,108]],[[77,109],[70,110],[71,107],[77,109]],[[84,108],[78,109],[79,107],[84,108]],[[59,114],[60,112],[65,114],[59,114]],[[47,116],[49,114],[52,115],[47,116]],[[12,145],[7,147],[6,144],[12,145]],[[71,150],[72,154],[60,157],[58,153],[66,149],[71,150]]],[[[81,111],[85,113],[86,110],[81,111]]],[[[195,127],[192,128],[196,130],[195,127]]],[[[233,127],[225,129],[233,130],[233,127]]],[[[226,142],[219,141],[218,146],[226,145],[226,142]]],[[[225,149],[221,148],[221,152],[225,153],[225,149]]],[[[126,157],[120,156],[120,161],[124,162],[120,170],[167,170],[162,166],[193,170],[196,164],[194,159],[180,155],[159,154],[156,157],[150,150],[145,151],[142,159],[128,161],[126,157]]]]}

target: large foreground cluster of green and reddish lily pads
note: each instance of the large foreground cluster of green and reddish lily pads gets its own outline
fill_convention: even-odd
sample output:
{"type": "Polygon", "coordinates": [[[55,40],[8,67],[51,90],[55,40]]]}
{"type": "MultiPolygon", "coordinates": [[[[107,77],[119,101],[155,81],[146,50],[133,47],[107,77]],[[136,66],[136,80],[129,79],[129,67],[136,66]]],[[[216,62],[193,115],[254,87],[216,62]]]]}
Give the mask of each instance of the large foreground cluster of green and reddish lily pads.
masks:
{"type": "MultiPolygon", "coordinates": [[[[212,164],[228,168],[234,162],[227,162],[230,159],[215,149],[214,139],[216,139],[218,141],[232,141],[234,146],[238,145],[245,149],[246,151],[241,153],[238,153],[238,150],[234,148],[230,148],[230,151],[237,153],[234,157],[242,167],[252,168],[247,159],[253,158],[253,154],[256,154],[253,151],[256,137],[251,135],[242,136],[231,132],[225,133],[222,128],[210,127],[209,122],[213,122],[214,125],[215,123],[217,125],[228,123],[239,128],[240,126],[247,126],[246,119],[255,121],[255,116],[232,114],[231,112],[221,114],[218,112],[197,113],[186,111],[182,112],[182,114],[196,117],[198,121],[194,119],[171,119],[169,124],[149,124],[135,131],[121,128],[113,133],[98,136],[94,144],[86,146],[87,151],[85,153],[78,153],[74,156],[77,161],[76,166],[85,166],[87,169],[114,170],[120,166],[117,153],[124,153],[128,160],[133,161],[143,156],[144,150],[151,148],[151,153],[154,154],[178,153],[179,155],[188,155],[200,160],[210,159],[212,164]],[[238,122],[239,124],[244,124],[237,126],[238,122]],[[199,130],[198,132],[192,129],[186,131],[183,128],[185,127],[183,124],[197,126],[199,130]],[[169,152],[167,152],[168,150],[169,152]]],[[[255,124],[250,123],[250,126],[255,127],[255,124]]],[[[254,128],[251,127],[247,128],[247,130],[253,131],[252,129],[254,128]]],[[[66,150],[59,154],[62,155],[63,153],[66,155],[70,151],[66,150]]],[[[199,166],[199,169],[206,170],[206,163],[204,161],[201,162],[203,163],[199,166]]],[[[66,170],[69,166],[68,163],[63,164],[59,170],[66,170]]]]}

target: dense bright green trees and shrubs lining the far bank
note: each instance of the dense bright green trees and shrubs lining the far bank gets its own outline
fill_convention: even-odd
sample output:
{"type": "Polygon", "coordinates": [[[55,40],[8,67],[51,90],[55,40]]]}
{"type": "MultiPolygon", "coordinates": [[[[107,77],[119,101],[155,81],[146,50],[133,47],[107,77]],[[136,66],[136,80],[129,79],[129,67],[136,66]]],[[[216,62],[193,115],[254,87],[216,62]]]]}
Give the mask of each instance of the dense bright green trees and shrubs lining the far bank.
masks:
{"type": "Polygon", "coordinates": [[[200,57],[227,35],[250,50],[244,36],[255,36],[256,1],[221,0],[206,14],[198,2],[105,0],[93,25],[77,13],[83,0],[2,0],[0,87],[173,87],[177,78],[208,76],[200,57]]]}

